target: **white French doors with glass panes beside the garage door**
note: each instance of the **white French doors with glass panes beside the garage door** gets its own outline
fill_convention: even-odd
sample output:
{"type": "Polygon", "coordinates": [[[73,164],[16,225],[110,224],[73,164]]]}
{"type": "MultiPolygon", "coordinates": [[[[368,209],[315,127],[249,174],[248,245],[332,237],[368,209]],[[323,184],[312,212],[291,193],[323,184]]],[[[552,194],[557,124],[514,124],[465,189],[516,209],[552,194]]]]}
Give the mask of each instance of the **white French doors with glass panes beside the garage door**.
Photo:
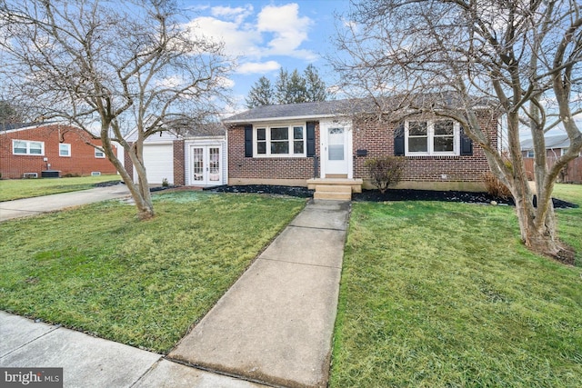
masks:
{"type": "Polygon", "coordinates": [[[205,145],[190,147],[192,172],[191,184],[221,184],[220,146],[205,145]]]}

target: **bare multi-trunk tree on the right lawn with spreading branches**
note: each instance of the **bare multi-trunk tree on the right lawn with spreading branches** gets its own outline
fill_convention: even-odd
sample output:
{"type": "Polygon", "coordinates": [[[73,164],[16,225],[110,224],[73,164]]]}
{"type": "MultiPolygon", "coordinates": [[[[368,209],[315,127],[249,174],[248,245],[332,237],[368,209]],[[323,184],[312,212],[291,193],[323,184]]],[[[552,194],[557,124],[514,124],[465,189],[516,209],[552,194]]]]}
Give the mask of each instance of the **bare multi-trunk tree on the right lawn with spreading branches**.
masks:
{"type": "Polygon", "coordinates": [[[582,149],[575,121],[581,112],[580,7],[577,0],[353,0],[336,36],[347,59],[333,60],[344,90],[372,96],[385,112],[382,97],[402,95],[402,114],[460,122],[511,191],[523,242],[569,261],[573,254],[557,238],[551,194],[560,170],[582,149]],[[503,114],[509,163],[479,122],[484,104],[503,114]],[[548,168],[544,134],[557,125],[570,147],[548,168]],[[537,207],[519,146],[522,128],[534,139],[537,207]]]}

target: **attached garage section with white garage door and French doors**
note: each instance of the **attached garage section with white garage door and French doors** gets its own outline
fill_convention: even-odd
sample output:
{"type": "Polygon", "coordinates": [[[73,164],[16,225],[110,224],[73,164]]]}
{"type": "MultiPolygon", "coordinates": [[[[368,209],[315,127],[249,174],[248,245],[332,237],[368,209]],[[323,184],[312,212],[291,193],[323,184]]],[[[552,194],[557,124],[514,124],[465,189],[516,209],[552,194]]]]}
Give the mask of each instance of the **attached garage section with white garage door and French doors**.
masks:
{"type": "MultiPolygon", "coordinates": [[[[136,132],[125,136],[135,142],[136,132]]],[[[124,155],[125,170],[137,182],[129,154],[124,155]]],[[[144,142],[144,164],[148,184],[216,186],[226,184],[226,138],[222,124],[206,124],[184,134],[164,131],[144,142]]]]}

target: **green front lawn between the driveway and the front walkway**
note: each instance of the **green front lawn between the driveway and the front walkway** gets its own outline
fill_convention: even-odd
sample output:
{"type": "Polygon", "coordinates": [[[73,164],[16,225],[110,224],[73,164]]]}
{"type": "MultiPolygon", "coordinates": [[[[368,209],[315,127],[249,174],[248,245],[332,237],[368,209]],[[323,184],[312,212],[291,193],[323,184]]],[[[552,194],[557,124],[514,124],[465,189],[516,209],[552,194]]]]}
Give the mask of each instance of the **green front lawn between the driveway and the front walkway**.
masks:
{"type": "Polygon", "coordinates": [[[0,224],[0,309],[166,353],[305,205],[154,198],[150,221],[109,201],[0,224]]]}

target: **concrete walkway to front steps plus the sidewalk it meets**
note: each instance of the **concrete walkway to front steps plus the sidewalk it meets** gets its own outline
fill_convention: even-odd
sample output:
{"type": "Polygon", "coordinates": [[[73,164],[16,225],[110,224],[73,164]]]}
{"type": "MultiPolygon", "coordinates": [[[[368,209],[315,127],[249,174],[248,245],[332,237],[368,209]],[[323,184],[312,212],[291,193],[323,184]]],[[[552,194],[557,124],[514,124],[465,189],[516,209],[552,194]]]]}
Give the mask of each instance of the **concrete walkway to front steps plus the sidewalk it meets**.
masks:
{"type": "Polygon", "coordinates": [[[0,312],[0,367],[63,367],[65,387],[325,387],[349,207],[308,204],[166,357],[0,312]]]}

